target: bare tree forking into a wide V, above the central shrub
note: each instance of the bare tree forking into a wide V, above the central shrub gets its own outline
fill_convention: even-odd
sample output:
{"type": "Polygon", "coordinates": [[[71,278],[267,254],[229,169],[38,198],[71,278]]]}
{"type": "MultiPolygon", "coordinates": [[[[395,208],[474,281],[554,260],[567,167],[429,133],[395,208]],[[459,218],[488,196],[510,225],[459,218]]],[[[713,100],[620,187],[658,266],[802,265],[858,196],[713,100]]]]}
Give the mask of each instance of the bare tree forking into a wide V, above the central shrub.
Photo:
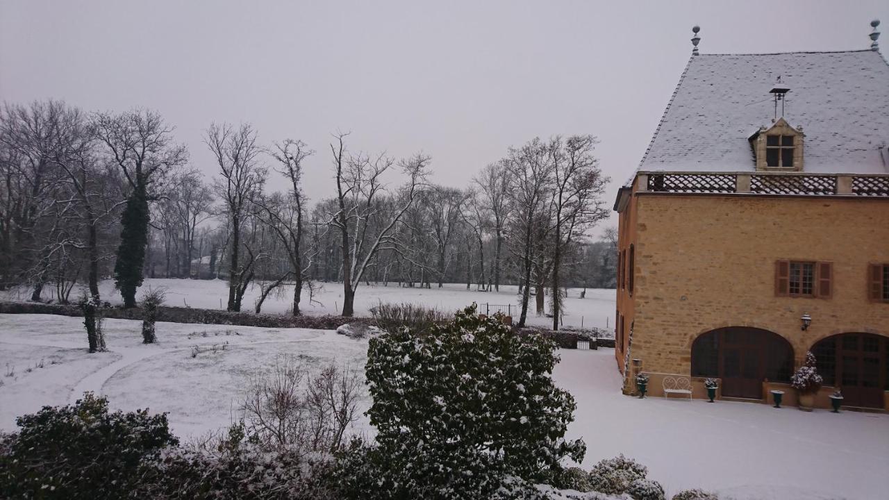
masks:
{"type": "Polygon", "coordinates": [[[396,224],[420,192],[429,157],[417,154],[398,163],[408,181],[394,197],[396,206],[384,211],[380,198],[387,193],[387,186],[382,175],[395,165],[395,160],[385,154],[374,158],[348,156],[344,142],[347,135],[335,135],[336,141],[331,144],[337,206],[330,223],[340,231],[341,237],[342,315],[352,316],[356,287],[364,272],[372,266],[381,248],[395,248],[392,236],[396,224]]]}

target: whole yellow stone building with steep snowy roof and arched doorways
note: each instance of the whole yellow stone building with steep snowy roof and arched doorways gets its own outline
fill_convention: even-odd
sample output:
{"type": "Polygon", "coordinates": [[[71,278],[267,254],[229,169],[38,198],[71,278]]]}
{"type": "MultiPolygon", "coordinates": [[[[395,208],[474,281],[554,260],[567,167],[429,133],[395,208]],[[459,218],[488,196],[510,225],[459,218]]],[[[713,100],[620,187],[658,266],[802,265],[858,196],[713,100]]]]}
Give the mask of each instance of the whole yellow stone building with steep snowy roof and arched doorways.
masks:
{"type": "Polygon", "coordinates": [[[693,55],[621,188],[615,357],[771,402],[813,351],[889,409],[889,64],[877,50],[693,55]]]}

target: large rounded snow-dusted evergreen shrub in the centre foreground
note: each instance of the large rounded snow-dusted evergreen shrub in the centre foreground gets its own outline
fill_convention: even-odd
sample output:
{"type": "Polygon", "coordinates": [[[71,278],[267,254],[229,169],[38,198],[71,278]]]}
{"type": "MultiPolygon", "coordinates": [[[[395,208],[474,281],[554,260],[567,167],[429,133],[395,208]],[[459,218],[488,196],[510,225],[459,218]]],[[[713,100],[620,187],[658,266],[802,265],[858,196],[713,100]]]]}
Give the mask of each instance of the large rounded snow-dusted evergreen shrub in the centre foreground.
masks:
{"type": "Polygon", "coordinates": [[[371,339],[375,479],[408,497],[488,497],[507,477],[547,479],[562,458],[580,461],[586,445],[564,439],[576,405],[553,384],[556,362],[552,341],[514,335],[475,305],[428,334],[371,339]]]}

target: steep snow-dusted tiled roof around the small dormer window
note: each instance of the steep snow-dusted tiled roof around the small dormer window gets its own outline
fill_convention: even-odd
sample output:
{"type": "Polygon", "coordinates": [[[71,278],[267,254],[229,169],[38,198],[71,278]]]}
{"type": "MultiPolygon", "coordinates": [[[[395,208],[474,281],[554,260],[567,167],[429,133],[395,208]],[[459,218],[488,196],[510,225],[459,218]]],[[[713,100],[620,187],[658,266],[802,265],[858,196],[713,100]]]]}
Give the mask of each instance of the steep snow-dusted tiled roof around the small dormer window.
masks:
{"type": "Polygon", "coordinates": [[[870,50],[692,56],[639,170],[754,170],[749,137],[772,125],[778,77],[804,172],[889,173],[889,64],[870,50]]]}

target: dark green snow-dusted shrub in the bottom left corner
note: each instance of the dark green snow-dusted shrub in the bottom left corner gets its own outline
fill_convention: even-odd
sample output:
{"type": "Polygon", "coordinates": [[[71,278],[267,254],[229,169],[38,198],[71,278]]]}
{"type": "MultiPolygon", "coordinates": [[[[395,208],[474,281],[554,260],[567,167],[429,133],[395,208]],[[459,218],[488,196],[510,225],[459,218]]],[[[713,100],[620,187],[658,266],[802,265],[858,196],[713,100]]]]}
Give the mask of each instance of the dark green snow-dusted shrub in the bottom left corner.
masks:
{"type": "Polygon", "coordinates": [[[90,392],[16,423],[0,446],[0,498],[124,498],[142,461],[178,444],[166,415],[108,413],[108,400],[90,392]]]}

